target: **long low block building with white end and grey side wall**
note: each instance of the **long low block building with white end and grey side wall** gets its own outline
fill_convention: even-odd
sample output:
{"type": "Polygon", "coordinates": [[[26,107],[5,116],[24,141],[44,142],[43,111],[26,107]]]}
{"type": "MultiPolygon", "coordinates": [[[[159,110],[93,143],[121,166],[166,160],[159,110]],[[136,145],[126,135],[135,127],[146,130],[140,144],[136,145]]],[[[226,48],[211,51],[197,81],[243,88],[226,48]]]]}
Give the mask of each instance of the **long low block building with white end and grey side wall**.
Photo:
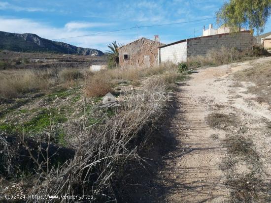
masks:
{"type": "Polygon", "coordinates": [[[252,49],[253,34],[250,30],[237,33],[222,33],[184,39],[158,48],[158,64],[179,63],[193,56],[204,56],[209,50],[221,47],[237,48],[239,51],[252,49]]]}

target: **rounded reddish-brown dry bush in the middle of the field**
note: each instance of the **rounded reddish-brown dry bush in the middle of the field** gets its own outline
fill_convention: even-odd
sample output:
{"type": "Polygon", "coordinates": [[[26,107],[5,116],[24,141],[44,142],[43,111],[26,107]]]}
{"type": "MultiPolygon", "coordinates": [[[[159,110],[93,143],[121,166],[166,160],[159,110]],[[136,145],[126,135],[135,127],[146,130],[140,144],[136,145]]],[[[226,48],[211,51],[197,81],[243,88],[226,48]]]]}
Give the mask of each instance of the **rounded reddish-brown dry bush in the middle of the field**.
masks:
{"type": "Polygon", "coordinates": [[[111,78],[103,72],[96,73],[87,78],[86,94],[87,96],[104,96],[112,91],[111,78]]]}

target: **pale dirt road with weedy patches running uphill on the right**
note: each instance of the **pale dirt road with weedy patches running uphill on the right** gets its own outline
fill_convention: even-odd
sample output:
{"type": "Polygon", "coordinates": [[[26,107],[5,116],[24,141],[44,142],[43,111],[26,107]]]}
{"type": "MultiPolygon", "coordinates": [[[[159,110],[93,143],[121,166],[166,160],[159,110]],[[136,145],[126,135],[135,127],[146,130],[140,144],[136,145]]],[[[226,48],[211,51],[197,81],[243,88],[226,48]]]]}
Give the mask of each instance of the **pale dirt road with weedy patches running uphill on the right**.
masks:
{"type": "Polygon", "coordinates": [[[255,84],[235,77],[237,71],[270,62],[260,58],[200,69],[180,84],[170,121],[178,145],[163,157],[161,202],[270,201],[265,190],[271,178],[270,106],[246,92],[255,84]]]}

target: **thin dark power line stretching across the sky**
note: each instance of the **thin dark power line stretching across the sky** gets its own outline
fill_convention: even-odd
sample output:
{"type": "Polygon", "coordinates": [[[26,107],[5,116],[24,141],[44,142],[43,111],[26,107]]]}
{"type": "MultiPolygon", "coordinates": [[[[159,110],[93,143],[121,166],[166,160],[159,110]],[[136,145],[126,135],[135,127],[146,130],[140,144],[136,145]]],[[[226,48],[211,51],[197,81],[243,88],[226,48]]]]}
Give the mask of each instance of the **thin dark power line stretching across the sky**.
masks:
{"type": "Polygon", "coordinates": [[[177,25],[177,24],[184,24],[184,23],[193,23],[193,22],[204,21],[204,20],[209,20],[209,19],[214,19],[214,18],[216,18],[216,17],[205,18],[205,19],[194,20],[194,21],[180,22],[180,23],[160,24],[160,25],[148,25],[148,26],[137,26],[136,25],[135,27],[132,27],[132,28],[116,29],[116,30],[112,30],[112,31],[98,32],[98,33],[94,33],[94,34],[86,34],[86,35],[80,35],[80,36],[64,37],[64,38],[58,38],[58,39],[52,39],[52,40],[60,40],[60,39],[70,39],[70,38],[77,38],[77,37],[94,36],[94,35],[99,35],[99,34],[105,34],[105,33],[123,31],[123,30],[128,30],[128,29],[135,29],[135,28],[138,29],[138,28],[149,28],[149,27],[170,26],[170,25],[177,25]]]}

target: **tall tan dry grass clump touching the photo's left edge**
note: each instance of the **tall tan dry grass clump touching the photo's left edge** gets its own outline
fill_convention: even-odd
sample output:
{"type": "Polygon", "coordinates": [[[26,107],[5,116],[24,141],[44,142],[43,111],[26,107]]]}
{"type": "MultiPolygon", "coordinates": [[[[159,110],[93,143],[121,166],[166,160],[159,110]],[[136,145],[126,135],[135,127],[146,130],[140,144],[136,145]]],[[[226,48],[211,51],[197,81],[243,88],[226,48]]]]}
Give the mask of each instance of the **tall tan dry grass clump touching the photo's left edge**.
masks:
{"type": "Polygon", "coordinates": [[[53,82],[54,78],[48,71],[1,71],[0,97],[15,98],[33,90],[47,90],[53,82]]]}

